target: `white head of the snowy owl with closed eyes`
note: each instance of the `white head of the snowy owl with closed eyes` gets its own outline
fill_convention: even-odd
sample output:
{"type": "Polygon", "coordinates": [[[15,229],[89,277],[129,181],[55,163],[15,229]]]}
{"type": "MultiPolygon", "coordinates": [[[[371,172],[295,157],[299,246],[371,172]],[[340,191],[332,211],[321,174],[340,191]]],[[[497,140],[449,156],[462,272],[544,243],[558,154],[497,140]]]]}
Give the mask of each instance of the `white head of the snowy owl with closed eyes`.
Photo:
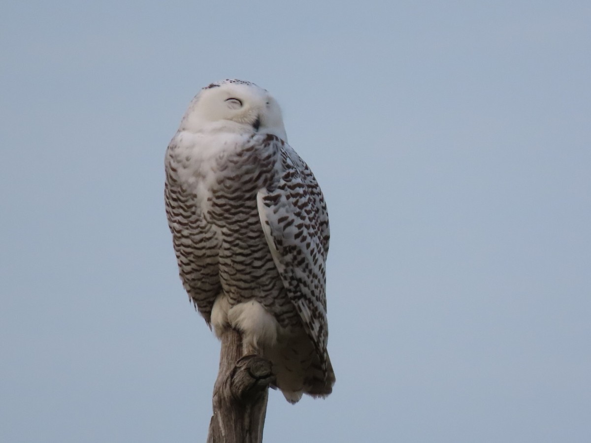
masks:
{"type": "Polygon", "coordinates": [[[277,101],[266,90],[242,80],[204,87],[187,109],[180,130],[261,132],[287,142],[277,101]]]}

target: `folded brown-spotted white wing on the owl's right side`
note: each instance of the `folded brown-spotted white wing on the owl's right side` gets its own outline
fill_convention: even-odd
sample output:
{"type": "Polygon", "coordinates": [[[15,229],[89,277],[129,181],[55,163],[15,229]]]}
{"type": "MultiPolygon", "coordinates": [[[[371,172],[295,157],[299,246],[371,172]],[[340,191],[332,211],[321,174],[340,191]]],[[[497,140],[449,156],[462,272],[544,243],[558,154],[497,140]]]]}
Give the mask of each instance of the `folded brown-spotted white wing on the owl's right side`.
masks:
{"type": "Polygon", "coordinates": [[[306,162],[280,139],[274,142],[281,155],[278,180],[258,192],[258,213],[283,285],[326,374],[326,204],[306,162]]]}

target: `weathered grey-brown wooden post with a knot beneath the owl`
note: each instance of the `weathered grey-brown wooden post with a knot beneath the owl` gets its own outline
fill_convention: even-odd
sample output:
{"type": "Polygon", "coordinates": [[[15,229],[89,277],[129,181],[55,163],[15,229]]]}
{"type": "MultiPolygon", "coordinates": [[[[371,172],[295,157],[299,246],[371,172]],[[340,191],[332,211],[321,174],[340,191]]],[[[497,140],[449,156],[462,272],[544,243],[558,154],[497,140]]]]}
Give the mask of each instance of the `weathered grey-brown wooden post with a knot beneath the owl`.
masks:
{"type": "Polygon", "coordinates": [[[228,328],[222,335],[207,443],[262,443],[273,378],[271,362],[256,355],[243,356],[241,334],[228,328]]]}

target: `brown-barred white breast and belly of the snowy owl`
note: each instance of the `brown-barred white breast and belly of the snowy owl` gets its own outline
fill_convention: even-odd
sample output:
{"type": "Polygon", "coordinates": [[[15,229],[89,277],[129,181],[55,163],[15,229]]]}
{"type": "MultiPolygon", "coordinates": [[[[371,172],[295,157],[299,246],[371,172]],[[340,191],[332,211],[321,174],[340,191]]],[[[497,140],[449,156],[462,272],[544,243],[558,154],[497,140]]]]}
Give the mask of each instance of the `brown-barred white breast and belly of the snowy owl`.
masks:
{"type": "Polygon", "coordinates": [[[256,193],[278,180],[280,154],[260,138],[216,136],[213,142],[185,135],[169,147],[169,224],[181,279],[208,322],[221,296],[226,309],[254,300],[289,327],[299,324],[297,312],[285,294],[256,204],[256,193]]]}

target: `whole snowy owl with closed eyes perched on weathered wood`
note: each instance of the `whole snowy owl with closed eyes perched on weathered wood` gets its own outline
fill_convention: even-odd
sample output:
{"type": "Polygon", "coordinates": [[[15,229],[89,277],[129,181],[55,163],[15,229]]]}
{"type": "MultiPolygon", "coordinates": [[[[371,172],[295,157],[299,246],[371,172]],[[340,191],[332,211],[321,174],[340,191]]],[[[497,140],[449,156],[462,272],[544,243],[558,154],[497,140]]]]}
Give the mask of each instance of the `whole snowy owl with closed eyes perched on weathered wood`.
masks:
{"type": "Polygon", "coordinates": [[[165,170],[181,281],[207,324],[218,337],[241,331],[244,353],[272,362],[289,402],[329,395],[329,219],[278,103],[254,83],[209,84],[168,145],[165,170]]]}

